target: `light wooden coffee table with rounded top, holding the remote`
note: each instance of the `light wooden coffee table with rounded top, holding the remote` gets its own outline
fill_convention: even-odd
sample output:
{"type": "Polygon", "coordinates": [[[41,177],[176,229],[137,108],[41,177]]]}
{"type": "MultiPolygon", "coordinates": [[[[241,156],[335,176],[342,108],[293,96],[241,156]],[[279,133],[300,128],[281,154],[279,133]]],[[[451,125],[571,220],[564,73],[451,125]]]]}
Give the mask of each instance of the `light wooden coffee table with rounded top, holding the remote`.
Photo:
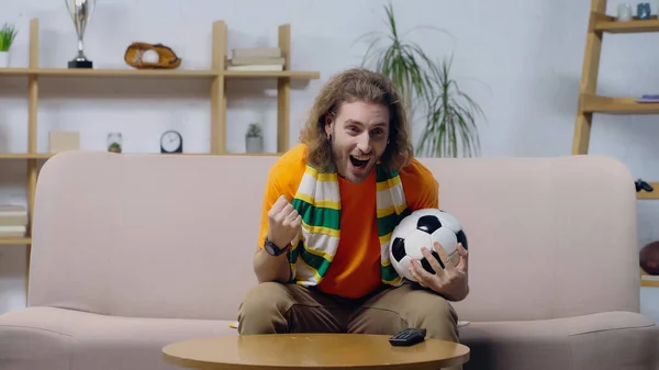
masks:
{"type": "Polygon", "coordinates": [[[393,347],[387,335],[268,334],[190,339],[163,348],[165,361],[192,369],[440,369],[469,360],[469,348],[426,339],[393,347]]]}

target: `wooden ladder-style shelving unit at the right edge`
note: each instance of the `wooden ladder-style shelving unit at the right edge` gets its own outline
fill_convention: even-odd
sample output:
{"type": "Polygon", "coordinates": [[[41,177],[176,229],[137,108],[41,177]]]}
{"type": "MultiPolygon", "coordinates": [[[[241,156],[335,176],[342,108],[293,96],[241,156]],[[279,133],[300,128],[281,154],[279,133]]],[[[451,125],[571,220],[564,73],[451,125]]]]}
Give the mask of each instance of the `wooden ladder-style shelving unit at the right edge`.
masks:
{"type": "MultiPolygon", "coordinates": [[[[606,0],[591,0],[579,90],[579,105],[574,124],[574,136],[572,138],[572,155],[588,154],[594,113],[659,114],[659,103],[638,103],[635,101],[636,98],[613,98],[596,94],[604,33],[630,34],[644,32],[659,32],[659,19],[657,15],[650,16],[649,20],[633,18],[630,21],[621,22],[611,15],[606,15],[606,0]]],[[[636,198],[639,200],[659,200],[659,181],[648,183],[655,190],[651,192],[637,192],[636,198]]],[[[659,282],[657,281],[644,280],[644,274],[645,271],[640,269],[639,278],[641,279],[641,287],[659,287],[659,282]]]]}

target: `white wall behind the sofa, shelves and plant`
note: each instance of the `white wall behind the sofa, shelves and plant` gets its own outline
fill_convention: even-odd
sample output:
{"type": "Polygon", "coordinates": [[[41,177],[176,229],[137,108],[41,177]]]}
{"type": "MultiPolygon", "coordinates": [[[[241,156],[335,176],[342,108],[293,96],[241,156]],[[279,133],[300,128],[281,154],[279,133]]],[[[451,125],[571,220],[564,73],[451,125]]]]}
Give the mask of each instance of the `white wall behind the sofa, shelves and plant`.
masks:
{"type": "MultiPolygon", "coordinates": [[[[164,43],[183,58],[181,68],[210,68],[211,23],[225,20],[231,47],[275,46],[277,26],[291,23],[292,69],[320,70],[321,80],[291,92],[291,143],[321,85],[334,72],[360,63],[362,34],[386,31],[384,1],[312,0],[99,0],[86,34],[86,52],[97,68],[126,68],[123,54],[133,41],[164,43]]],[[[610,13],[618,1],[610,1],[610,13]]],[[[589,0],[398,0],[401,30],[444,29],[410,36],[436,57],[455,53],[454,76],[488,115],[481,126],[484,156],[569,155],[589,0]]],[[[652,4],[655,5],[655,4],[652,4]]],[[[654,8],[656,12],[656,7],[654,8]]],[[[21,29],[13,67],[27,64],[29,21],[40,18],[43,67],[66,67],[76,40],[64,2],[5,1],[0,23],[21,29]]],[[[600,93],[657,93],[659,35],[606,35],[600,93]]],[[[0,152],[26,148],[26,90],[22,79],[0,78],[0,152]]],[[[186,152],[208,152],[209,88],[202,82],[148,80],[57,80],[41,88],[38,149],[47,132],[77,130],[85,149],[100,149],[109,132],[123,133],[124,150],[157,152],[168,128],[185,136],[186,152]]],[[[228,85],[230,152],[244,150],[247,124],[265,124],[266,149],[276,148],[273,83],[228,85]],[[264,93],[263,88],[268,88],[264,93]]],[[[655,116],[596,116],[591,153],[619,158],[635,177],[659,180],[659,122],[655,116]]],[[[420,133],[421,127],[415,127],[420,133]]],[[[417,136],[415,136],[416,138],[417,136]]],[[[0,162],[1,201],[24,197],[22,161],[0,162]]],[[[612,214],[615,216],[615,214],[612,214]]],[[[659,201],[639,202],[639,246],[659,238],[659,201]]],[[[0,247],[0,312],[21,307],[24,250],[0,247]]],[[[643,291],[644,310],[658,306],[659,289],[643,291]]],[[[659,313],[651,313],[659,319],[659,313]]]]}

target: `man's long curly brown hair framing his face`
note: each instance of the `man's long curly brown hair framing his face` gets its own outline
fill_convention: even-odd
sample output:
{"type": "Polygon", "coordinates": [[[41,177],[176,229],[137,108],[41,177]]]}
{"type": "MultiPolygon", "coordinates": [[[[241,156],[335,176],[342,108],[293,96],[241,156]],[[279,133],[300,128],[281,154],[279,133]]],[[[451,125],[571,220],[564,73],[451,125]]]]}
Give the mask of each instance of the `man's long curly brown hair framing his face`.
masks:
{"type": "Polygon", "coordinates": [[[300,133],[308,161],[315,168],[332,168],[332,146],[325,134],[327,116],[336,116],[342,104],[355,101],[389,108],[389,144],[380,158],[388,170],[400,170],[414,156],[403,99],[391,80],[365,68],[346,69],[323,86],[300,133]]]}

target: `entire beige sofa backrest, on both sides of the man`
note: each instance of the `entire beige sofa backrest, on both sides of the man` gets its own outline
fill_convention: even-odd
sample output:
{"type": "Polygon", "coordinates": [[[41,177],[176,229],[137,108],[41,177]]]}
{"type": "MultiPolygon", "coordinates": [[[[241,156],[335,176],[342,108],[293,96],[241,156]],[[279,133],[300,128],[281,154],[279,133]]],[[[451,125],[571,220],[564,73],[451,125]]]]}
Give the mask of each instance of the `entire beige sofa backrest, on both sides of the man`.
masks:
{"type": "MultiPolygon", "coordinates": [[[[30,305],[236,319],[277,157],[63,153],[36,189],[30,305]]],[[[422,159],[465,225],[463,319],[638,311],[633,180],[611,158],[422,159]]]]}

